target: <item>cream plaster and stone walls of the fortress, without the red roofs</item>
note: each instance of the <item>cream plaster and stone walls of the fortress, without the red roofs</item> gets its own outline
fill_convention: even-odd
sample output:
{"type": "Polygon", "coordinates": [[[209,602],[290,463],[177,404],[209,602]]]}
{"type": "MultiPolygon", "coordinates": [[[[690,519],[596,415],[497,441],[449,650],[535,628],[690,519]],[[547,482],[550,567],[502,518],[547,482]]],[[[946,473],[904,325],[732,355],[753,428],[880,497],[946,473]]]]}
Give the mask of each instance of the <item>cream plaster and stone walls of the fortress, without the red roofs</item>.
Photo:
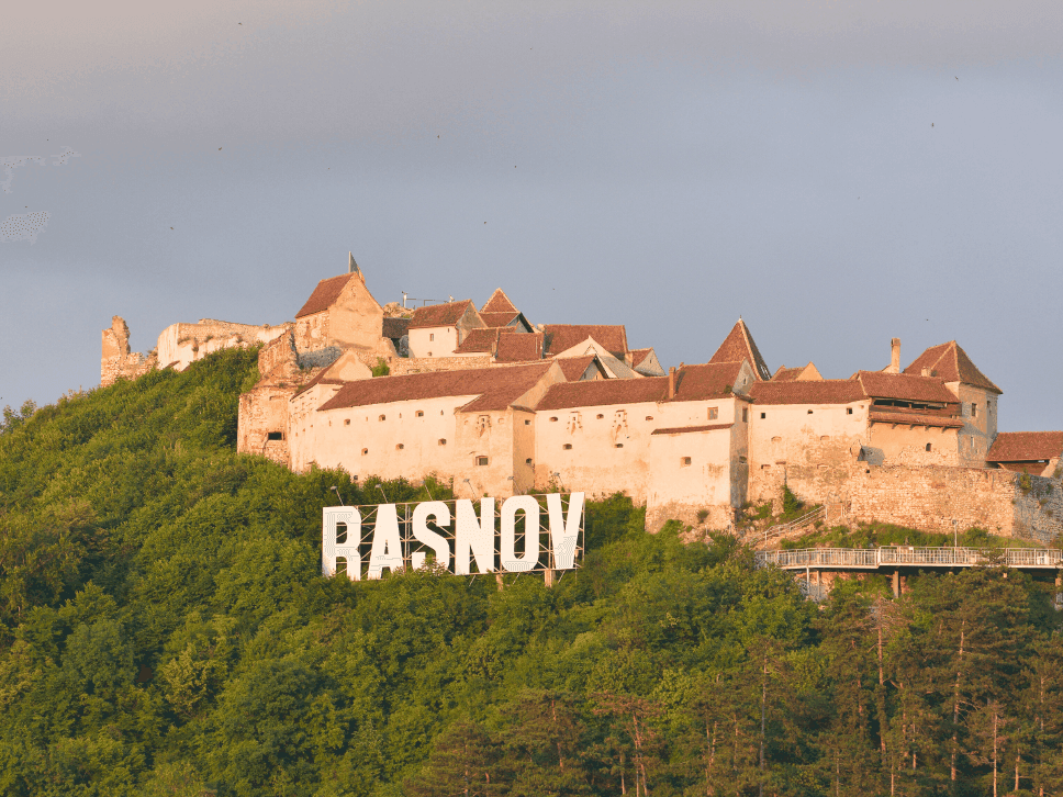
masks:
{"type": "MultiPolygon", "coordinates": [[[[489,304],[500,293],[496,291],[489,304]]],[[[504,294],[502,299],[508,303],[504,294]]],[[[485,305],[484,310],[490,311],[481,311],[484,317],[500,315],[497,307],[485,305]]],[[[457,319],[461,323],[477,315],[474,307],[461,312],[465,321],[457,319]]],[[[567,490],[595,495],[620,490],[647,506],[651,530],[669,518],[706,529],[732,527],[738,509],[747,503],[771,501],[781,508],[785,485],[805,502],[832,507],[831,523],[843,517],[848,523],[887,521],[943,531],[983,527],[994,534],[1042,541],[1063,534],[1059,469],[1027,475],[986,467],[985,454],[996,437],[999,391],[980,372],[981,386],[972,388],[945,382],[932,368],[922,367],[922,378],[933,377],[951,391],[944,404],[922,411],[915,405],[893,406],[862,389],[854,396],[851,390],[857,377],[825,381],[809,363],[788,370],[806,374],[797,379],[819,380],[827,394],[841,390],[844,395],[824,394],[826,397],[804,403],[772,401],[770,396],[758,397],[757,389],[775,382],[775,378],[767,371],[741,321],[708,364],[746,360],[750,374],[756,374],[753,393],[741,400],[714,400],[712,406],[692,404],[696,415],[690,417],[681,417],[687,409],[678,404],[661,404],[660,396],[638,398],[631,391],[622,391],[615,405],[537,409],[536,402],[550,384],[579,379],[573,375],[575,371],[562,377],[557,369],[527,394],[535,401],[526,396],[522,404],[505,409],[494,407],[466,415],[461,407],[468,396],[460,402],[418,398],[417,407],[406,409],[414,413],[416,424],[422,423],[418,413],[428,413],[425,418],[432,416],[430,434],[426,433],[423,440],[410,437],[399,404],[390,408],[367,406],[360,415],[322,415],[318,409],[344,384],[371,379],[371,369],[381,362],[391,377],[467,370],[470,379],[513,364],[496,361],[492,353],[403,356],[410,351],[407,336],[384,319],[410,315],[399,305],[381,307],[351,258],[350,271],[322,280],[294,322],[255,326],[204,318],[195,324],[174,324],[163,332],[156,350],[142,355],[130,350],[128,328],[114,316],[111,327],[102,332],[101,384],[135,379],[160,367],[182,370],[212,351],[261,344],[260,380],[239,398],[237,448],[295,470],[331,463],[353,468],[351,473],[361,476],[405,475],[414,480],[434,472],[454,479],[459,491],[472,490],[477,495],[544,490],[555,481],[567,490]],[[640,403],[646,401],[650,404],[640,403]],[[705,412],[710,413],[707,418],[705,412]],[[937,415],[911,415],[909,420],[903,416],[906,412],[937,415]],[[609,437],[616,417],[626,418],[628,414],[646,426],[645,434],[634,435],[627,429],[623,441],[609,437]],[[384,417],[389,424],[402,419],[403,431],[400,434],[398,427],[384,429],[384,417]],[[604,430],[601,434],[600,426],[604,430]],[[382,442],[385,438],[387,448],[382,442]]],[[[482,324],[479,317],[473,321],[482,324]]],[[[454,328],[455,323],[439,322],[443,329],[454,328]]],[[[424,325],[419,328],[423,332],[424,325]]],[[[544,327],[535,329],[541,336],[544,327]]],[[[601,333],[608,329],[603,327],[601,333]]],[[[585,353],[584,348],[612,351],[618,346],[606,349],[594,339],[585,340],[590,348],[575,343],[581,353],[585,353]]],[[[622,348],[625,351],[616,353],[629,358],[626,343],[622,348]]],[[[649,351],[656,361],[652,349],[640,351],[649,351]]],[[[921,359],[929,352],[931,349],[921,359]]],[[[549,360],[552,355],[541,357],[549,360]]],[[[899,340],[894,340],[892,366],[882,373],[900,378],[899,340]]],[[[629,378],[645,377],[631,373],[629,378]]],[[[728,384],[725,392],[730,394],[731,386],[728,384]]],[[[429,424],[423,423],[427,429],[429,424]]],[[[1053,456],[1054,467],[1059,456],[1053,456]]]]}

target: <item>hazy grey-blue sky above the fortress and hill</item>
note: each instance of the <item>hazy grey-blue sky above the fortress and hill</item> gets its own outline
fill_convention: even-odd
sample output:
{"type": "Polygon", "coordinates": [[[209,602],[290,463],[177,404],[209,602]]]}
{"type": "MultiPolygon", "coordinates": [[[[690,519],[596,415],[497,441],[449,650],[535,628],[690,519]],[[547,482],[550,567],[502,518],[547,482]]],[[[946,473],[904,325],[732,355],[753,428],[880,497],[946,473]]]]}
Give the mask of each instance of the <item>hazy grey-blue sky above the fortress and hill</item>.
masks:
{"type": "MultiPolygon", "coordinates": [[[[9,4],[10,5],[10,4],[9,4]]],[[[383,304],[741,315],[827,378],[956,339],[1063,428],[1063,3],[25,3],[0,12],[0,406],[178,321],[383,304]],[[20,160],[21,158],[21,160],[20,160]],[[36,158],[36,159],[33,159],[36,158]]]]}

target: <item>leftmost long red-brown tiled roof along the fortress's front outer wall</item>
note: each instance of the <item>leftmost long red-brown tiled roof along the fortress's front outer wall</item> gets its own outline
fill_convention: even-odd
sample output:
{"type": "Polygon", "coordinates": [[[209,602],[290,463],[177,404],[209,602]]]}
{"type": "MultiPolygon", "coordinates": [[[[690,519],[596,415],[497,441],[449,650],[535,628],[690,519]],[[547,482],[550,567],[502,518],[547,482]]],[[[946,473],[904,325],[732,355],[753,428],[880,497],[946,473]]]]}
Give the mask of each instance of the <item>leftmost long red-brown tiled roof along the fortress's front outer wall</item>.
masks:
{"type": "Polygon", "coordinates": [[[336,395],[318,407],[318,412],[445,396],[474,396],[466,408],[473,404],[480,409],[505,408],[530,390],[550,364],[492,366],[346,382],[336,395]]]}

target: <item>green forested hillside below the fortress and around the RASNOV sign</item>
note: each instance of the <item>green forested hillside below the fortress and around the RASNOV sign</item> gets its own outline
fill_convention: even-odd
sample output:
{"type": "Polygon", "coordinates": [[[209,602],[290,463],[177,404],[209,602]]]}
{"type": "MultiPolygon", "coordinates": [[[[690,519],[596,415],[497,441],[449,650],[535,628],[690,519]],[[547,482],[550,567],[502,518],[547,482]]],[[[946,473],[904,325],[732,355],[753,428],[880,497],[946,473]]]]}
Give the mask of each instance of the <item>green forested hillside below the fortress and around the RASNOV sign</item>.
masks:
{"type": "Polygon", "coordinates": [[[974,570],[818,605],[727,537],[645,534],[623,496],[589,505],[552,590],[326,580],[329,487],[378,485],[237,456],[256,375],[227,350],[5,414],[3,795],[1063,790],[1051,583],[974,570]]]}

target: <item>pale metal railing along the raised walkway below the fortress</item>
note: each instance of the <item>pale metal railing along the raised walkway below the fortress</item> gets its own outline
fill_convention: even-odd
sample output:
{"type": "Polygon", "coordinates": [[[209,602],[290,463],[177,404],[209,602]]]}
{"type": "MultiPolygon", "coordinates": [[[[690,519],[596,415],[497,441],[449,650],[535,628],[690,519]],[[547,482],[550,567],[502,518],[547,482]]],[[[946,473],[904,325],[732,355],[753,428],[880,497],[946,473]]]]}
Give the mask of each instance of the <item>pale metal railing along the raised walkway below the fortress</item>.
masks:
{"type": "Polygon", "coordinates": [[[881,566],[973,568],[1002,564],[1008,568],[1063,568],[1063,551],[1048,548],[801,548],[754,551],[757,566],[774,564],[783,570],[807,568],[875,570],[881,566]]]}

